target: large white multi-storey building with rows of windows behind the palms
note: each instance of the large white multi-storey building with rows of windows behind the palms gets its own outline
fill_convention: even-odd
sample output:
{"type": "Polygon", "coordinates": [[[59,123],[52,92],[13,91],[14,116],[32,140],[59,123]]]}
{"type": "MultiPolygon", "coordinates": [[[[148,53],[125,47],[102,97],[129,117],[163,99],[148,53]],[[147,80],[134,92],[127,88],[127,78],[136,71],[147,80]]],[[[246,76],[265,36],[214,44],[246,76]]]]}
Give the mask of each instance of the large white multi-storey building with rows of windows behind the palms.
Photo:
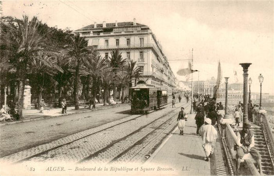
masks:
{"type": "Polygon", "coordinates": [[[119,49],[123,58],[137,61],[143,75],[139,81],[167,89],[170,93],[176,86],[176,78],[167,57],[151,29],[135,22],[93,24],[74,31],[85,37],[103,57],[119,49]]]}

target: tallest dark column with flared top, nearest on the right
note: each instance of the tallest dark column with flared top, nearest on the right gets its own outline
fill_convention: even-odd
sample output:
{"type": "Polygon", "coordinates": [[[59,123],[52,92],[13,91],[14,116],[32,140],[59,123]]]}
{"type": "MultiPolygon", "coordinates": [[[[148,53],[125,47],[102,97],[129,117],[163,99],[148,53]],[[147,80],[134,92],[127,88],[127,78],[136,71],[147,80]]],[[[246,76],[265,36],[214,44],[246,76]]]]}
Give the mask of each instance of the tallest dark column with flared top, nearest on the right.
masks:
{"type": "Polygon", "coordinates": [[[244,113],[243,113],[243,119],[244,123],[248,122],[248,107],[247,107],[247,101],[248,101],[248,94],[247,94],[247,79],[248,79],[248,67],[251,65],[251,63],[242,63],[240,64],[243,67],[244,71],[244,113]]]}

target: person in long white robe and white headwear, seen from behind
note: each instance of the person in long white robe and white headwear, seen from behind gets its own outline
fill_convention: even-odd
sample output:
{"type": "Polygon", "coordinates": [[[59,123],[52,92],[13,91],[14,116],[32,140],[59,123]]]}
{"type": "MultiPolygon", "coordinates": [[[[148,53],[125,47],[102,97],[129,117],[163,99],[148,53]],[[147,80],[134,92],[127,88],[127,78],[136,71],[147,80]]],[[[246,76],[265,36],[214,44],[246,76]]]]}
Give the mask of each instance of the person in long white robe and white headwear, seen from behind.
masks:
{"type": "Polygon", "coordinates": [[[215,142],[218,136],[218,133],[213,125],[211,125],[211,120],[206,118],[205,125],[200,128],[200,134],[203,140],[203,148],[206,153],[206,161],[210,161],[210,157],[214,152],[215,142]]]}

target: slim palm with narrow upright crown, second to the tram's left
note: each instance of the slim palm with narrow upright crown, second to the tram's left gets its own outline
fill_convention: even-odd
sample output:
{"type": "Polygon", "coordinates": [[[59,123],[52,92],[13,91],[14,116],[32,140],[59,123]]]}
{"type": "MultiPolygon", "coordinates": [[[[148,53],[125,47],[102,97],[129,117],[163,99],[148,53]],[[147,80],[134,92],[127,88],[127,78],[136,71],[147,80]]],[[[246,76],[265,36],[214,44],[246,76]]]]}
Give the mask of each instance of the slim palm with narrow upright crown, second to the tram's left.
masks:
{"type": "MultiPolygon", "coordinates": [[[[112,50],[111,57],[109,58],[109,65],[112,67],[114,77],[117,76],[117,73],[123,69],[123,66],[125,65],[126,60],[122,58],[122,53],[119,53],[119,50],[112,50]]],[[[114,94],[114,100],[116,99],[116,87],[117,82],[113,83],[113,94],[114,94]]]]}

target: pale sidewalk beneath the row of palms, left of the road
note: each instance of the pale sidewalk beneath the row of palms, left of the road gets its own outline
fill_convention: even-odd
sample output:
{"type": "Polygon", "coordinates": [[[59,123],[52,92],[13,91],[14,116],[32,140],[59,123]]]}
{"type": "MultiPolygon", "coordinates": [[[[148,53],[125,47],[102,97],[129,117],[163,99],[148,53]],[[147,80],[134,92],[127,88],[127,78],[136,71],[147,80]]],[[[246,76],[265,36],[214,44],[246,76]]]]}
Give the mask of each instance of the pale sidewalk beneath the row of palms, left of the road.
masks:
{"type": "Polygon", "coordinates": [[[95,109],[89,109],[88,107],[85,108],[84,106],[80,106],[79,110],[75,110],[75,107],[71,106],[71,107],[67,107],[67,113],[65,113],[65,114],[62,114],[62,108],[47,109],[47,107],[46,107],[44,109],[44,113],[39,113],[38,109],[23,110],[23,116],[25,118],[24,120],[13,121],[13,122],[7,122],[7,121],[0,122],[0,126],[35,121],[35,120],[46,119],[46,118],[54,118],[54,117],[58,117],[58,116],[70,115],[70,114],[75,114],[75,113],[97,111],[97,110],[125,106],[125,105],[129,105],[129,103],[121,104],[121,102],[117,102],[117,104],[114,106],[112,106],[112,105],[103,106],[103,103],[99,103],[99,104],[97,103],[95,109]]]}

